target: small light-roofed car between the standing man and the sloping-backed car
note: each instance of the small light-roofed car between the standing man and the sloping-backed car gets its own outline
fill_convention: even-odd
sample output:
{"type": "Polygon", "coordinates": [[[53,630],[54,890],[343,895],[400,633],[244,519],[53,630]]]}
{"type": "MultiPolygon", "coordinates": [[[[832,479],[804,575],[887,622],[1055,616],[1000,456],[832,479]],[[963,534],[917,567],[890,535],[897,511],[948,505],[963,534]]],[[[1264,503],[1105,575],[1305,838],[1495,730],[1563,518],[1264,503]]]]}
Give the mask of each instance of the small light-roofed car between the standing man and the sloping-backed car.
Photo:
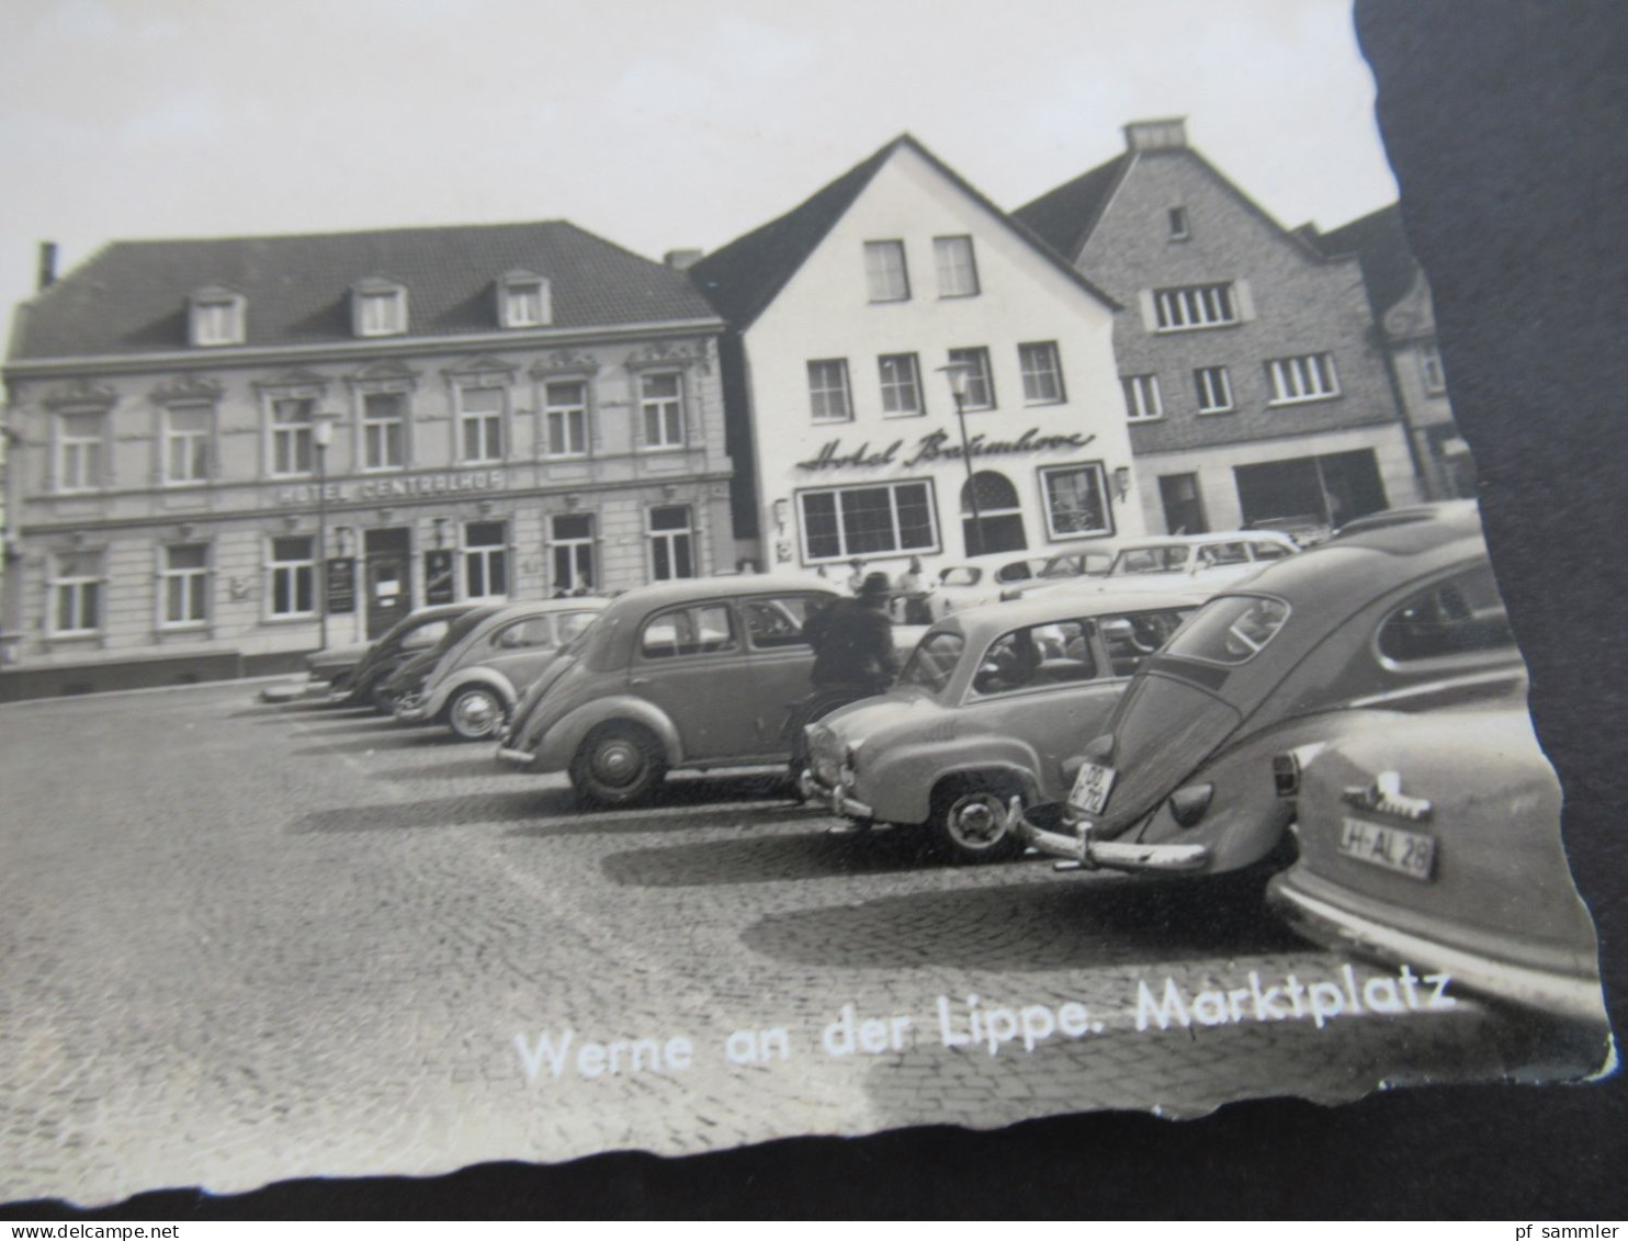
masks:
{"type": "Polygon", "coordinates": [[[881,697],[809,725],[801,792],[861,826],[931,829],[956,862],[1016,857],[1009,798],[1068,792],[1063,761],[1198,599],[1032,599],[939,620],[881,697]]]}

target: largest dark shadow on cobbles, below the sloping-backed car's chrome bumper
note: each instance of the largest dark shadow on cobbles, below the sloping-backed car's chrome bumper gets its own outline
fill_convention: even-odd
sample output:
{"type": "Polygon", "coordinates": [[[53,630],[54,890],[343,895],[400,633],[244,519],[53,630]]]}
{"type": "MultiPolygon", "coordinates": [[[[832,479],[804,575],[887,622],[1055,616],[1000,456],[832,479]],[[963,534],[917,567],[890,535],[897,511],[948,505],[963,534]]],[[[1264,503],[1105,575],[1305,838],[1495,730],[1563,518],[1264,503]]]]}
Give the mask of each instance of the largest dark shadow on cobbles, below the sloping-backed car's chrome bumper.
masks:
{"type": "Polygon", "coordinates": [[[1258,876],[1249,884],[1035,878],[772,914],[741,940],[803,966],[1013,972],[1307,949],[1267,912],[1258,876]]]}

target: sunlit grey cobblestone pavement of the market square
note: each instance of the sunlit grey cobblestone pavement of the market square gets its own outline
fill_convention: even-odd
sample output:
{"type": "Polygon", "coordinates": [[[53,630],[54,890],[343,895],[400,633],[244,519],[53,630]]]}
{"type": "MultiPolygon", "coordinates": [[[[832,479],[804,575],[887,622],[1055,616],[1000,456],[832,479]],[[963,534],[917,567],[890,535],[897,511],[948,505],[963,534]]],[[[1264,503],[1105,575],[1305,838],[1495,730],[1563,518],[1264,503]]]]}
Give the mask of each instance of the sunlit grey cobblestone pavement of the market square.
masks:
{"type": "Polygon", "coordinates": [[[490,746],[243,686],[11,707],[0,738],[0,1199],[1185,1116],[1535,1055],[1237,884],[921,865],[762,778],[581,813],[490,746]]]}

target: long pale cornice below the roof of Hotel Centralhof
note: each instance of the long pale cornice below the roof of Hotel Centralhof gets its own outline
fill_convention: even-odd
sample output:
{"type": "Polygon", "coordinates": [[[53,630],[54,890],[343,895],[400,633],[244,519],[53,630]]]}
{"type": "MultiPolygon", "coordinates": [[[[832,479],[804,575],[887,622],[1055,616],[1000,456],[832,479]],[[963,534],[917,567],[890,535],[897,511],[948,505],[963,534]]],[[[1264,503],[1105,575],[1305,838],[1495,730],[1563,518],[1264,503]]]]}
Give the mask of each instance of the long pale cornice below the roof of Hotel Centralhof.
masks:
{"type": "Polygon", "coordinates": [[[462,335],[368,337],[365,340],[326,342],[319,345],[231,345],[181,349],[161,353],[93,353],[72,358],[26,358],[7,362],[7,381],[41,379],[67,375],[107,371],[147,373],[156,370],[220,370],[231,365],[269,365],[316,362],[353,362],[394,355],[508,352],[560,345],[606,344],[648,337],[720,334],[726,327],[720,318],[664,319],[659,322],[612,324],[606,327],[552,327],[539,331],[470,332],[462,335]]]}

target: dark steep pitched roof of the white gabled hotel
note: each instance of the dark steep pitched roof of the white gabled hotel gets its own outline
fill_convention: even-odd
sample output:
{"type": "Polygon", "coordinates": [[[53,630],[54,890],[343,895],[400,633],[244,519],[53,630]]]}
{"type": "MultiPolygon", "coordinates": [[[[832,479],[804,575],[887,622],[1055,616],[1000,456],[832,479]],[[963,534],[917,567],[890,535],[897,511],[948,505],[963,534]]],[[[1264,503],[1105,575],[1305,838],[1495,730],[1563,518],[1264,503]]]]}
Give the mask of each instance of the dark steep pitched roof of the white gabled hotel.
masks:
{"type": "Polygon", "coordinates": [[[908,134],[900,134],[785,215],[736,238],[723,249],[713,251],[690,269],[690,278],[731,326],[744,331],[768,308],[864,187],[871,184],[876,171],[900,148],[910,148],[920,155],[962,194],[1022,236],[1070,280],[1102,300],[1104,305],[1117,308],[1118,303],[1107,293],[1060,261],[1029,228],[983,197],[959,173],[908,134]]]}

